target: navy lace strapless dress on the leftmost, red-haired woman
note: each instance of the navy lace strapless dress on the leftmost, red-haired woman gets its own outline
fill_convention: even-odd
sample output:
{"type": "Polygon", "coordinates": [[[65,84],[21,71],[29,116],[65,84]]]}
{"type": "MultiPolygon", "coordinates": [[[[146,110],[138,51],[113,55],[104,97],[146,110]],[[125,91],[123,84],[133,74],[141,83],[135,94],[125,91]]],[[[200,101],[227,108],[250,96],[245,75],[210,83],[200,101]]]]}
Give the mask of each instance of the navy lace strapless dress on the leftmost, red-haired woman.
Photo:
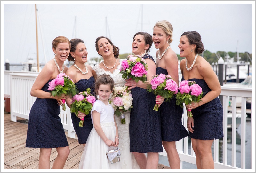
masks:
{"type": "MultiPolygon", "coordinates": [[[[48,83],[50,81],[41,90],[49,92],[48,83]]],[[[59,114],[60,106],[55,99],[36,98],[29,113],[26,147],[57,148],[68,146],[59,114]]]]}

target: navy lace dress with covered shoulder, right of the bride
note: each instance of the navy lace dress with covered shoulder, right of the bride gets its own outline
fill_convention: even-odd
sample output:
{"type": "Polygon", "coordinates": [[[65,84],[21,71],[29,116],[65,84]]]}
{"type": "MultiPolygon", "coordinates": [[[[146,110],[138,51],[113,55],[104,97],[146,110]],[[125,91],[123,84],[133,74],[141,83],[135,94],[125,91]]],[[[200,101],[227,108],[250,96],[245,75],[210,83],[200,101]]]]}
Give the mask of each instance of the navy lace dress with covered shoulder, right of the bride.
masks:
{"type": "MultiPolygon", "coordinates": [[[[144,55],[143,58],[154,61],[150,55],[144,55]]],[[[132,89],[132,97],[130,151],[163,152],[160,112],[153,110],[156,96],[152,92],[147,92],[146,89],[135,87],[132,89]]]]}

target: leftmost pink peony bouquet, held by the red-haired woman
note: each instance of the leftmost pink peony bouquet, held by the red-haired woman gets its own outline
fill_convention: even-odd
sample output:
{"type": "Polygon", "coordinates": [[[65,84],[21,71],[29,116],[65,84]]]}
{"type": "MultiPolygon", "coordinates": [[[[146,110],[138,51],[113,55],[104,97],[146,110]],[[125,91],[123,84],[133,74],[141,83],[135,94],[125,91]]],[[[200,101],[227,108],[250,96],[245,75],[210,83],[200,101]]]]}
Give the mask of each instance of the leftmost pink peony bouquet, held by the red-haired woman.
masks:
{"type": "MultiPolygon", "coordinates": [[[[60,73],[48,84],[48,90],[53,96],[60,96],[61,94],[66,94],[66,96],[72,97],[78,92],[78,89],[72,79],[70,79],[70,77],[67,76],[65,73],[60,73]]],[[[62,110],[66,111],[65,100],[62,100],[62,102],[64,103],[62,106],[62,110]]]]}

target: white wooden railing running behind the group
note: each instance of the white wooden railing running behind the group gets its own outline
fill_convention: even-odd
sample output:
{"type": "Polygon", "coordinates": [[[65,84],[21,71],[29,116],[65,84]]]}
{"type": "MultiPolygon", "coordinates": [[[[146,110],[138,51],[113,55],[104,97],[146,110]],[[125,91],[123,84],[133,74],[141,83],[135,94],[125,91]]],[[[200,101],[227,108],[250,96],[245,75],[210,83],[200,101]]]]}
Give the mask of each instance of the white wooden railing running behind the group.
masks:
{"type": "MultiPolygon", "coordinates": [[[[4,94],[8,94],[8,90],[6,87],[10,88],[10,96],[11,96],[11,120],[16,122],[16,117],[21,117],[28,119],[29,111],[34,101],[35,97],[30,96],[31,87],[36,80],[38,73],[12,73],[10,71],[4,71],[4,94]],[[5,93],[6,92],[6,93],[5,93]]],[[[245,169],[245,118],[246,118],[246,99],[252,98],[252,89],[248,88],[232,88],[232,87],[224,87],[222,86],[221,96],[223,96],[223,131],[224,138],[222,139],[222,146],[219,146],[219,139],[214,140],[214,164],[215,169],[245,169]],[[227,154],[228,154],[228,139],[227,139],[227,113],[228,113],[228,102],[229,98],[232,98],[232,161],[231,164],[228,164],[227,154]],[[237,98],[241,98],[241,168],[236,166],[236,100],[237,98]],[[222,149],[222,158],[219,158],[219,148],[222,149]],[[219,159],[222,160],[222,163],[219,162],[219,159]]],[[[66,106],[67,110],[60,112],[60,118],[63,123],[63,127],[68,131],[68,137],[75,138],[75,130],[72,125],[71,117],[70,117],[70,109],[66,106]]],[[[248,110],[247,110],[248,111],[248,110]]],[[[251,115],[253,109],[251,108],[251,115]]],[[[187,113],[184,111],[183,114],[183,125],[187,124],[187,113]]],[[[252,117],[254,118],[254,117],[252,117]]],[[[252,127],[253,124],[251,118],[251,169],[252,169],[252,127]]],[[[184,125],[185,128],[186,125],[184,125]]],[[[189,142],[188,137],[181,139],[176,142],[176,148],[180,155],[181,169],[183,161],[196,164],[195,153],[192,149],[190,152],[188,148],[192,148],[191,143],[189,142]]],[[[160,155],[167,156],[165,150],[163,153],[159,153],[160,155]]]]}

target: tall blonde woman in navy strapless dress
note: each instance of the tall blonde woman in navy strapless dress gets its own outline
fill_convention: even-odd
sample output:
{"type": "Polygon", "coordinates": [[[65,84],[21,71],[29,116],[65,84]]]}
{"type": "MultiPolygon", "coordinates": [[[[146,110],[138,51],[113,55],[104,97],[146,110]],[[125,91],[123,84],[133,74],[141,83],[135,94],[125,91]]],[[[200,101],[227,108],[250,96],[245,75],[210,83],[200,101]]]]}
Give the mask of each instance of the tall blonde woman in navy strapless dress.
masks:
{"type": "MultiPolygon", "coordinates": [[[[179,83],[178,57],[172,50],[172,25],[163,20],[156,22],[153,29],[153,41],[156,51],[156,74],[171,75],[173,80],[179,83]]],[[[160,109],[162,142],[166,150],[171,169],[180,169],[180,157],[176,149],[176,141],[188,136],[188,132],[182,125],[183,109],[176,106],[176,97],[170,102],[164,102],[160,109]]]]}

